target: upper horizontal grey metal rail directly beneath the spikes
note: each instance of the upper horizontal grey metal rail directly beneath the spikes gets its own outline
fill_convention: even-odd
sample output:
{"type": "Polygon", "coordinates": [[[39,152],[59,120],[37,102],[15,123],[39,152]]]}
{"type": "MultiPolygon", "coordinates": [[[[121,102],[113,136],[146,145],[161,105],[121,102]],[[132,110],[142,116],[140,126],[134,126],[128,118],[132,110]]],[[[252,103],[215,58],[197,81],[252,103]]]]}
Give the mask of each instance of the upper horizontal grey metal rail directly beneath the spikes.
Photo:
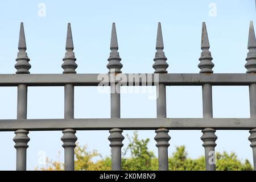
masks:
{"type": "Polygon", "coordinates": [[[110,77],[126,77],[127,80],[115,82],[131,85],[250,85],[256,82],[254,73],[130,73],[118,75],[112,74],[0,74],[0,86],[64,86],[72,83],[74,86],[98,86],[101,84],[110,85],[110,77]],[[102,75],[108,79],[102,81],[102,75]],[[144,78],[142,78],[143,76],[144,78]],[[129,76],[133,79],[129,79],[129,76]],[[141,77],[141,78],[139,78],[141,77]],[[135,79],[134,79],[135,78],[135,79]],[[149,79],[150,78],[150,79],[149,79]],[[137,79],[137,80],[136,80],[137,79]],[[152,79],[152,80],[151,80],[152,79]]]}

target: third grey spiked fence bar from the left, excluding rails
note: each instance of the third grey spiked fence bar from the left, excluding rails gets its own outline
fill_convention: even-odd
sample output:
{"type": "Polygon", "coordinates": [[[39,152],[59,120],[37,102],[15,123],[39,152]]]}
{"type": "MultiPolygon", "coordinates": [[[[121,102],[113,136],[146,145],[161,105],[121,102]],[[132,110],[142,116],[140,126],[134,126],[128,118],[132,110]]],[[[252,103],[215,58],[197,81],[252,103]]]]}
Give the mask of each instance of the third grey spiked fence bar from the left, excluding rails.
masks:
{"type": "MultiPolygon", "coordinates": [[[[107,68],[109,69],[109,73],[113,74],[115,78],[115,74],[122,73],[121,68],[123,67],[122,63],[120,63],[121,58],[118,53],[118,42],[117,42],[117,32],[115,30],[115,23],[112,24],[112,34],[110,41],[110,56],[109,63],[107,68]]],[[[111,104],[111,118],[120,118],[120,86],[116,85],[115,82],[112,82],[110,85],[110,104],[111,104]]],[[[110,136],[110,147],[111,147],[111,159],[112,159],[112,170],[113,171],[121,171],[121,148],[123,146],[123,139],[125,139],[122,135],[123,130],[121,129],[111,129],[109,130],[110,136]]]]}

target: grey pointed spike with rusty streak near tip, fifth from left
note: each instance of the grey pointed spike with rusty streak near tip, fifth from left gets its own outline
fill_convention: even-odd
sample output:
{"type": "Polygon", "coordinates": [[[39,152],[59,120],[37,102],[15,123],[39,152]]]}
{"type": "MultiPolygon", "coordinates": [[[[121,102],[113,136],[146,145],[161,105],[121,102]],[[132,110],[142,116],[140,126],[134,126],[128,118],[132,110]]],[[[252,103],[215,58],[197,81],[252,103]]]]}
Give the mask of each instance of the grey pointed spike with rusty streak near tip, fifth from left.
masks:
{"type": "Polygon", "coordinates": [[[213,73],[212,68],[214,64],[212,63],[212,55],[209,51],[210,44],[207,34],[207,28],[205,22],[202,24],[202,37],[201,37],[201,56],[199,57],[200,73],[213,73]]]}

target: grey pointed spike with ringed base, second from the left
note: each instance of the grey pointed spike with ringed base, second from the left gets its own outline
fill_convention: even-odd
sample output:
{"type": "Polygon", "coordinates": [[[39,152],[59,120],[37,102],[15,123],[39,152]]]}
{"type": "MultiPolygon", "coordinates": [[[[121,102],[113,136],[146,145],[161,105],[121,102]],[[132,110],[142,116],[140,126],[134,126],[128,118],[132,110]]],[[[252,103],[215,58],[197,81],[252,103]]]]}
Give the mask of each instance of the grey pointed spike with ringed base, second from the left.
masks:
{"type": "Polygon", "coordinates": [[[66,53],[63,58],[64,63],[61,67],[64,69],[63,73],[76,73],[77,64],[75,63],[76,57],[73,52],[73,38],[71,32],[71,24],[68,23],[67,40],[66,40],[66,53]]]}

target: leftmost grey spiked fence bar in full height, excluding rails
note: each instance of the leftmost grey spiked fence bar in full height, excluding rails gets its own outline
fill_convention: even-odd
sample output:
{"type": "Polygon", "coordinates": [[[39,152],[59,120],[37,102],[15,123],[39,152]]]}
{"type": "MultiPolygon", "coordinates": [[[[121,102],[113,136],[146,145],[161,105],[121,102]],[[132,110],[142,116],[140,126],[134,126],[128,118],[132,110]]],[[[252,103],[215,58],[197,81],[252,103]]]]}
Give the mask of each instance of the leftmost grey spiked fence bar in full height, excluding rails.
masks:
{"type": "MultiPolygon", "coordinates": [[[[27,57],[26,53],[26,39],[24,34],[23,23],[20,23],[19,32],[19,45],[18,45],[18,55],[16,58],[17,63],[15,64],[16,74],[29,74],[28,71],[31,68],[30,59],[27,57]]],[[[27,119],[27,85],[18,85],[18,96],[17,96],[17,119],[27,119]]],[[[16,130],[15,137],[13,138],[16,148],[16,170],[26,171],[27,167],[27,148],[28,137],[27,130],[16,130]]]]}

